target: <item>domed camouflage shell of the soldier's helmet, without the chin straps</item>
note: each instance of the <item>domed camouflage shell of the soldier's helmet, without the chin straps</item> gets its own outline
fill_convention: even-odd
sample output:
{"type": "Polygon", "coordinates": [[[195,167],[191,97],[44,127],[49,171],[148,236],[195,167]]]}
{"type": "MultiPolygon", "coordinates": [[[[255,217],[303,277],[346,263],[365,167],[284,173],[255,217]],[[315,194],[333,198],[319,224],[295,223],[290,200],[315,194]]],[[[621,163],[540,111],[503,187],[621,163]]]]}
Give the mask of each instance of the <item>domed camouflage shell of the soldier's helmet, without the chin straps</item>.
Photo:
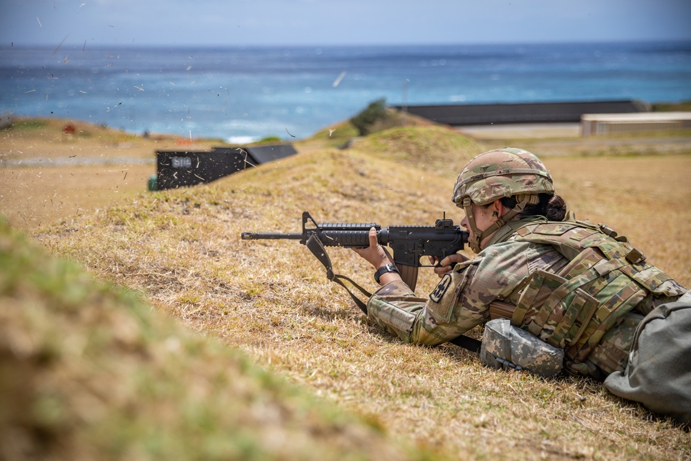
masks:
{"type": "Polygon", "coordinates": [[[487,205],[502,197],[520,194],[553,194],[552,178],[545,165],[524,149],[505,147],[473,158],[456,179],[453,202],[462,207],[469,197],[487,205]]]}

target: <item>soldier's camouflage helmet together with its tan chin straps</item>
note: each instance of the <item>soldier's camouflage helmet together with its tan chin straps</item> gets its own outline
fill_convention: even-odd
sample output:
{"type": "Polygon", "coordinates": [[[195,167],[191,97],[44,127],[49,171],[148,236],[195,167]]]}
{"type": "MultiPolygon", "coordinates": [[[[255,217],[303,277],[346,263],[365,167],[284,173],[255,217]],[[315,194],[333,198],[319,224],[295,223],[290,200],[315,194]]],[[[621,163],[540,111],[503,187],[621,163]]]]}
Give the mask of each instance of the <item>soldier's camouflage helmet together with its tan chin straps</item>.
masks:
{"type": "Polygon", "coordinates": [[[479,253],[482,238],[503,227],[527,205],[539,202],[538,194],[554,194],[552,177],[536,156],[523,149],[504,147],[481,153],[460,172],[453,187],[453,202],[463,208],[473,236],[468,241],[479,253]],[[477,228],[471,205],[489,205],[503,197],[515,196],[517,205],[484,230],[477,228]]]}

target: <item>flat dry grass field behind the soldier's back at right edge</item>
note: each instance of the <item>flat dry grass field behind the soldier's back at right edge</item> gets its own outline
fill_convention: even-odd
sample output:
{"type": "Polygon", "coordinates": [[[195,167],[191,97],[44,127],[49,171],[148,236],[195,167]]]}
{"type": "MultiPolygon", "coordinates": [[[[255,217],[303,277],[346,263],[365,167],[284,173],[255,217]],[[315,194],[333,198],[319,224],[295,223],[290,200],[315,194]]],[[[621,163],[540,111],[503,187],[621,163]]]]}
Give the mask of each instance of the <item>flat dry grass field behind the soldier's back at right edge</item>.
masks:
{"type": "Polygon", "coordinates": [[[606,223],[691,286],[690,156],[548,158],[576,216],[606,223]]]}

